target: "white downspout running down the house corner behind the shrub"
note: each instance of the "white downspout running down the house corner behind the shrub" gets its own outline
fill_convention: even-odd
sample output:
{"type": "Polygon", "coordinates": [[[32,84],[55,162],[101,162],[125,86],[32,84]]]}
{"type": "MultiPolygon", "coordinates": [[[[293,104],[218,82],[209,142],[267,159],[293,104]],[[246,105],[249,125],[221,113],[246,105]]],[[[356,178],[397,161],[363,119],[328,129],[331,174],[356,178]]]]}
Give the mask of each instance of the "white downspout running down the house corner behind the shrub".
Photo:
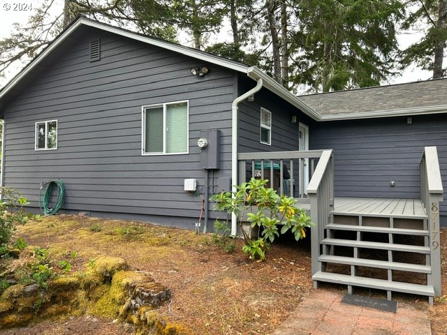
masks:
{"type": "MultiPolygon", "coordinates": [[[[236,192],[235,185],[237,184],[237,105],[241,101],[244,101],[252,94],[260,91],[263,87],[263,80],[258,78],[256,86],[253,89],[242,94],[242,96],[238,96],[233,101],[231,105],[231,191],[233,193],[236,192]]],[[[231,214],[231,236],[236,237],[237,235],[237,218],[235,214],[231,214]]]]}

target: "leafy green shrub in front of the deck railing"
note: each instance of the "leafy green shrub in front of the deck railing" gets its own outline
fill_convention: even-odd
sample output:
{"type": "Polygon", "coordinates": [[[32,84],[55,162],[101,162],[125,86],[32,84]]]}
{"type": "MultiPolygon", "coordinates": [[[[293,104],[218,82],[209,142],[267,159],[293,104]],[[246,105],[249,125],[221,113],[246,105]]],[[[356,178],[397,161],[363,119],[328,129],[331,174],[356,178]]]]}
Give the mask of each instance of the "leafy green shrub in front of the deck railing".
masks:
{"type": "Polygon", "coordinates": [[[295,205],[293,198],[278,195],[273,188],[265,187],[267,182],[251,178],[249,182],[235,186],[235,192],[222,192],[211,198],[216,202],[214,209],[236,215],[245,242],[242,251],[251,260],[265,260],[265,253],[279,234],[290,229],[298,241],[306,237],[305,228],[313,225],[310,216],[295,205]],[[251,228],[259,228],[261,237],[258,239],[251,239],[244,230],[242,225],[246,216],[251,228]],[[281,230],[279,225],[282,225],[281,230]]]}

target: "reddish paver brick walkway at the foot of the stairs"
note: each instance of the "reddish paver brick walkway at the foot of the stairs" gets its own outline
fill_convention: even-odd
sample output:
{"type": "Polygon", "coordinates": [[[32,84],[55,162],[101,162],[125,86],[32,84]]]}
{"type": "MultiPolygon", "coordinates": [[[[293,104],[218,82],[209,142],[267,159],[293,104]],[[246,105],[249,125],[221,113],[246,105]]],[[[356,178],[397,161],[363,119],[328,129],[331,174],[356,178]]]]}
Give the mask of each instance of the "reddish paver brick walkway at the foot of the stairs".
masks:
{"type": "Polygon", "coordinates": [[[342,302],[343,295],[312,290],[274,335],[430,335],[428,308],[397,304],[397,313],[342,302]]]}

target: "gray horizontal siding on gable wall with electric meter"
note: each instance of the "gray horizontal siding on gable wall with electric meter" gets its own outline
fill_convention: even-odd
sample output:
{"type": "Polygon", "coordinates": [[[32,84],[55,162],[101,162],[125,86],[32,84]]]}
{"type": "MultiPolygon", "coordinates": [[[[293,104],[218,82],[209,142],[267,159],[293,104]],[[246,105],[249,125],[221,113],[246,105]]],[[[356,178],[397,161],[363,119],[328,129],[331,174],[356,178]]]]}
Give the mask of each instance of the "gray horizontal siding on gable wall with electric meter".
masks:
{"type": "Polygon", "coordinates": [[[19,189],[31,206],[38,206],[41,182],[61,179],[68,211],[197,219],[200,198],[184,192],[184,179],[198,179],[204,193],[196,142],[199,131],[214,128],[222,135],[214,184],[230,176],[230,108],[237,78],[211,65],[205,78],[194,77],[190,68],[201,62],[90,32],[101,37],[101,61],[88,61],[89,38],[77,36],[77,43],[50,55],[42,66],[46,70],[34,73],[36,79],[6,106],[4,184],[19,189]],[[184,100],[189,101],[189,154],[142,156],[141,106],[184,100]],[[35,151],[34,124],[50,119],[58,121],[58,149],[35,151]]]}

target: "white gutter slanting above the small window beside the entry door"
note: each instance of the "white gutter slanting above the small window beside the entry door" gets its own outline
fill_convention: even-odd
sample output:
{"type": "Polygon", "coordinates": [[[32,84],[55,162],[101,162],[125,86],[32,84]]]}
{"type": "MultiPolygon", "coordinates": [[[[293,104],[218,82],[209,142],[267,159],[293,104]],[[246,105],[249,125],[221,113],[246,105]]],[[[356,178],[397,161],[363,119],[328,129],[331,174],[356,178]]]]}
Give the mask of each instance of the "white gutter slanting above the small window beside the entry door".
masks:
{"type": "Polygon", "coordinates": [[[310,107],[300,98],[293,95],[290,91],[282,87],[272,77],[269,77],[268,75],[263,73],[263,71],[256,68],[256,66],[249,67],[247,70],[247,75],[254,80],[258,80],[258,78],[261,78],[264,82],[263,86],[266,89],[272,91],[274,94],[283,98],[288,103],[291,103],[293,106],[299,108],[309,117],[312,117],[312,119],[315,119],[317,121],[321,119],[321,115],[318,114],[318,112],[316,112],[315,110],[313,110],[312,107],[310,107]]]}

